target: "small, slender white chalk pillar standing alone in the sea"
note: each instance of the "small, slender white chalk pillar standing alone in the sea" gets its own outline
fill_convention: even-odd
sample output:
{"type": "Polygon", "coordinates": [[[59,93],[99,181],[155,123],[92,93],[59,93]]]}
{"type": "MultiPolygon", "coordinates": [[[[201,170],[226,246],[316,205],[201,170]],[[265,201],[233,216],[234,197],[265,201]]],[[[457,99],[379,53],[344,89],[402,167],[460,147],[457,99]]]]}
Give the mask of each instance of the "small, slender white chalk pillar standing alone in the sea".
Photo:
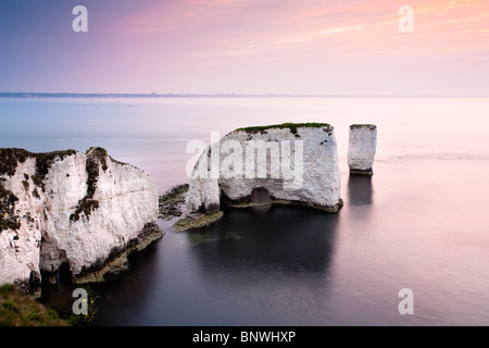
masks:
{"type": "Polygon", "coordinates": [[[352,174],[373,175],[375,152],[377,151],[377,126],[374,124],[352,124],[348,147],[348,166],[352,174]]]}

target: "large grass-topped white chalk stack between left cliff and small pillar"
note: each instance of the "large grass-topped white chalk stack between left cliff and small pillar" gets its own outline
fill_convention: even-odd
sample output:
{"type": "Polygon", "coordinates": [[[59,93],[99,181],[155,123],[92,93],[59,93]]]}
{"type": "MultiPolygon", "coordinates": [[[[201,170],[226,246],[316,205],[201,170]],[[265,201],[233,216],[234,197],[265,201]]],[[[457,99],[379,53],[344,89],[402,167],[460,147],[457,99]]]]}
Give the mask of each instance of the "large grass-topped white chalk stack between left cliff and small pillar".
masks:
{"type": "Polygon", "coordinates": [[[189,213],[230,206],[296,203],[329,212],[342,206],[334,128],[283,124],[240,128],[203,151],[189,183],[189,213]]]}

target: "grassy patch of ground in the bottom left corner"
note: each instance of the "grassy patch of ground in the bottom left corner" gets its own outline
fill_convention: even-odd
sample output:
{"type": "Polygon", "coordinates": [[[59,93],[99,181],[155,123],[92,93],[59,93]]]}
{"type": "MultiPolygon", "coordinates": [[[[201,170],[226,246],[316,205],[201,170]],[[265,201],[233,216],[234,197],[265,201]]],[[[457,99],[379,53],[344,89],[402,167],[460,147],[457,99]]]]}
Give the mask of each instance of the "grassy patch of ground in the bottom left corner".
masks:
{"type": "Polygon", "coordinates": [[[13,285],[0,286],[0,326],[68,326],[58,313],[13,285]]]}

